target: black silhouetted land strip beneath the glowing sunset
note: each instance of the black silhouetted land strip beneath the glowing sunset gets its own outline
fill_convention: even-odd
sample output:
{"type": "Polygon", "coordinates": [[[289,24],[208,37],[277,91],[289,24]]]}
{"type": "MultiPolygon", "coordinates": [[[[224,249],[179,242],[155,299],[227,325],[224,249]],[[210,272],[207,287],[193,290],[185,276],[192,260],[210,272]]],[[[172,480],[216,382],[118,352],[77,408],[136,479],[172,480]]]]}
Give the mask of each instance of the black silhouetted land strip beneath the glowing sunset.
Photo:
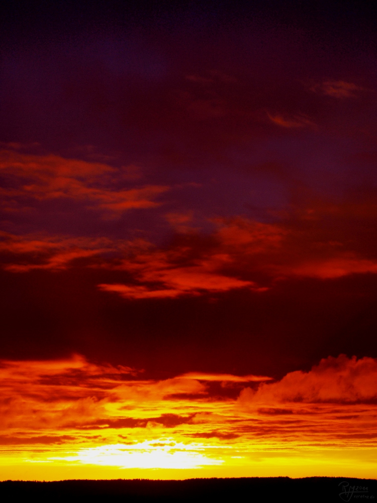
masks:
{"type": "Polygon", "coordinates": [[[0,501],[364,501],[377,480],[309,477],[0,482],[0,501]]]}

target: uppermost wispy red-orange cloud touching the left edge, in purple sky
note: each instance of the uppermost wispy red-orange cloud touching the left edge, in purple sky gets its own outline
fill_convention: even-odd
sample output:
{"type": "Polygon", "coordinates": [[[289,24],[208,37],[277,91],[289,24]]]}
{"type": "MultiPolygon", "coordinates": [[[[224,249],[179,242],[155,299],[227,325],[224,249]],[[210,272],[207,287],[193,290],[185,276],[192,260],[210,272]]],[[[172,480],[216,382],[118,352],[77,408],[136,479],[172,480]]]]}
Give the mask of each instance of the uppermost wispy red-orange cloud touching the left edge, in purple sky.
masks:
{"type": "MultiPolygon", "coordinates": [[[[134,180],[134,166],[123,170],[123,182],[134,180]]],[[[4,197],[24,205],[35,201],[71,199],[86,208],[119,215],[129,209],[159,206],[155,198],[169,190],[162,185],[146,185],[129,189],[118,188],[122,173],[107,164],[65,159],[58,155],[22,154],[0,151],[0,173],[8,177],[12,188],[3,189],[4,197]]],[[[7,209],[7,206],[6,206],[7,209]]]]}

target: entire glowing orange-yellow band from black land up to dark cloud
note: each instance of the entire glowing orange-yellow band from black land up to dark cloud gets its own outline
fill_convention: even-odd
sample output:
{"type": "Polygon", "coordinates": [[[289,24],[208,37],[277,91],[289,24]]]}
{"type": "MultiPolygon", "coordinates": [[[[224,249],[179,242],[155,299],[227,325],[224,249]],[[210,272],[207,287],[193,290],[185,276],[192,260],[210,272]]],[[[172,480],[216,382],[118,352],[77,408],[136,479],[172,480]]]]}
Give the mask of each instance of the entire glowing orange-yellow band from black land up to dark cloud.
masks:
{"type": "Polygon", "coordinates": [[[280,381],[2,362],[2,479],[375,476],[377,362],[340,356],[280,381]],[[241,386],[234,398],[209,383],[241,386]]]}

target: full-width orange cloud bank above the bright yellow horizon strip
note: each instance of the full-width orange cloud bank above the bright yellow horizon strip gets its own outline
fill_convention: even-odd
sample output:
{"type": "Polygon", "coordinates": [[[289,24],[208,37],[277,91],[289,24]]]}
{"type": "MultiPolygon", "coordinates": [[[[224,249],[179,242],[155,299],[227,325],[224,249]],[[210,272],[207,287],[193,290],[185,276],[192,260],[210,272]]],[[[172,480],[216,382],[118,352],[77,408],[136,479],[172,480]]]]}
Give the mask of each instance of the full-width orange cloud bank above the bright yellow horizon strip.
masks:
{"type": "Polygon", "coordinates": [[[352,439],[361,449],[377,438],[372,358],[328,357],[309,372],[290,372],[272,383],[254,375],[200,372],[141,377],[130,367],[90,363],[78,355],[2,361],[0,444],[12,452],[44,444],[44,452],[56,456],[57,449],[72,453],[79,446],[117,444],[119,436],[131,434],[129,448],[146,439],[162,446],[201,438],[208,441],[202,449],[233,445],[238,453],[232,455],[248,456],[250,445],[268,450],[271,442],[281,451],[340,448],[352,439]],[[215,380],[237,383],[238,398],[211,394],[215,380]]]}

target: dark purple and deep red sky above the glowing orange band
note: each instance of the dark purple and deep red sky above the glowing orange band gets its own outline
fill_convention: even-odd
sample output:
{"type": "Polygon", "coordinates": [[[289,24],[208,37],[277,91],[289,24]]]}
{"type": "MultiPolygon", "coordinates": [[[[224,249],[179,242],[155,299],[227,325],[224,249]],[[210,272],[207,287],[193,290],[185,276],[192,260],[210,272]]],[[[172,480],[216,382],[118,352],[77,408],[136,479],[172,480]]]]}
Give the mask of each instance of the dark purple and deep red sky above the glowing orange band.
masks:
{"type": "Polygon", "coordinates": [[[80,4],[3,8],[3,356],[375,357],[372,5],[80,4]]]}

